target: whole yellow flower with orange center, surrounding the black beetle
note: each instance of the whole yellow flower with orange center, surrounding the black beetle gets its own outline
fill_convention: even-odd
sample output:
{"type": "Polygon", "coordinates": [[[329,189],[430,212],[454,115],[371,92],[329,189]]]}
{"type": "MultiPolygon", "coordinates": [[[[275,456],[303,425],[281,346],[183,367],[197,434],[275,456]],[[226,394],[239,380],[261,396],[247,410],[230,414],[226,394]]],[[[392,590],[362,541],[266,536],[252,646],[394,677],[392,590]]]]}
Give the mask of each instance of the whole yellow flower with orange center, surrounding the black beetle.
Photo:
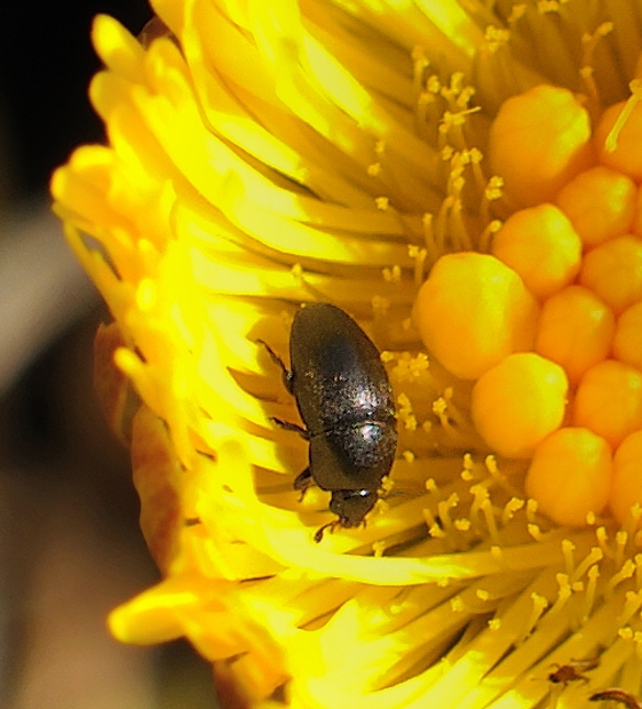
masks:
{"type": "Polygon", "coordinates": [[[52,182],[143,402],[164,580],[112,632],[185,635],[265,708],[640,695],[639,3],[153,5],[144,43],[97,19],[108,144],[52,182]],[[399,430],[365,525],[320,543],[258,344],[287,358],[313,301],[375,341],[399,430]]]}

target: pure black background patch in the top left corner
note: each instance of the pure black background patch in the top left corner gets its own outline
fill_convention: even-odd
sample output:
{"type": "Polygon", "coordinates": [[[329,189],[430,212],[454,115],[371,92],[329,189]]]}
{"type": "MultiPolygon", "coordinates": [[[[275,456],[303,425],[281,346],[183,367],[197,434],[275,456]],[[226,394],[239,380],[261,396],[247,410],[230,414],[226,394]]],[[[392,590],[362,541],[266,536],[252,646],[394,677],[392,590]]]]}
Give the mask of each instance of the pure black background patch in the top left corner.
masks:
{"type": "Polygon", "coordinates": [[[102,137],[87,99],[99,68],[89,40],[98,13],[133,34],[152,14],[143,0],[0,3],[0,120],[12,200],[43,192],[74,146],[102,137]]]}

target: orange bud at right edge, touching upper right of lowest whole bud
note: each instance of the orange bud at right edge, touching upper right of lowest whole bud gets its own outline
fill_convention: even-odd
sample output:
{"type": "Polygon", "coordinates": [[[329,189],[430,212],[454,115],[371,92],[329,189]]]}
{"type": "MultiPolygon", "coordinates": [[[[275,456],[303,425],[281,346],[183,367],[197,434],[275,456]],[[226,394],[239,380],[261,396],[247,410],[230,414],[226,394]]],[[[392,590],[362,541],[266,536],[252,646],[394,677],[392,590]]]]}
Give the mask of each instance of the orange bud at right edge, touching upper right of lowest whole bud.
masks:
{"type": "Polygon", "coordinates": [[[616,359],[596,364],[577,387],[573,423],[590,429],[617,447],[642,428],[642,372],[616,359]]]}

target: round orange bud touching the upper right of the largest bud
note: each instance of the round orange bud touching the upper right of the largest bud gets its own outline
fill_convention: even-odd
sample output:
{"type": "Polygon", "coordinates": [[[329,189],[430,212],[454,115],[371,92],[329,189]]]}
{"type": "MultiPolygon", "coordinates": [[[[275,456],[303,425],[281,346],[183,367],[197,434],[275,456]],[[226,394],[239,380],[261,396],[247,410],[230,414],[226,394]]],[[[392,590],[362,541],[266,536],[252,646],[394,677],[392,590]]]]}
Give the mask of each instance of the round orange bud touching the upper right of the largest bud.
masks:
{"type": "Polygon", "coordinates": [[[561,209],[539,204],[511,214],[491,251],[520,275],[535,298],[544,299],[577,276],[582,240],[561,209]]]}

